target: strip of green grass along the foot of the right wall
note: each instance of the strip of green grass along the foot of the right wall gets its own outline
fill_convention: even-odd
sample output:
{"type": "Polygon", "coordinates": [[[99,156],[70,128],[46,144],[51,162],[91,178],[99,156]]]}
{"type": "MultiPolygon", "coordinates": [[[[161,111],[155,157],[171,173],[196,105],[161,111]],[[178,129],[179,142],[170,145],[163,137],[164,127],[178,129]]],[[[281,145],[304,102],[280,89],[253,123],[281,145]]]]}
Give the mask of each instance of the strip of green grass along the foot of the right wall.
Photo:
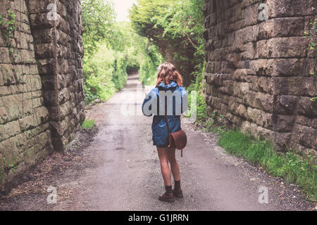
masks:
{"type": "Polygon", "coordinates": [[[221,130],[219,134],[218,144],[229,153],[254,165],[261,165],[273,176],[299,185],[312,200],[317,200],[317,167],[309,163],[313,157],[306,160],[294,152],[285,155],[276,153],[271,142],[254,140],[251,135],[243,134],[241,131],[221,130]]]}

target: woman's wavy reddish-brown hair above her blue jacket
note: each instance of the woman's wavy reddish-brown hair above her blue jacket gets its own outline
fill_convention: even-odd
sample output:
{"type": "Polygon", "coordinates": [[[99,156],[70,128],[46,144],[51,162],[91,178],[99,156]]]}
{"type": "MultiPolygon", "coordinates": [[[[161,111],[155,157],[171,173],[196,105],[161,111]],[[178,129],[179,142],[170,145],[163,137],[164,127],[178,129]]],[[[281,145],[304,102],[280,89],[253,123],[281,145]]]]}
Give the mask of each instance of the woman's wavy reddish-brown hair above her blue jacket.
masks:
{"type": "Polygon", "coordinates": [[[175,65],[172,63],[161,64],[157,73],[156,86],[159,86],[161,82],[164,82],[164,85],[167,85],[171,81],[176,82],[178,86],[182,86],[182,76],[180,75],[180,72],[176,70],[175,65]]]}

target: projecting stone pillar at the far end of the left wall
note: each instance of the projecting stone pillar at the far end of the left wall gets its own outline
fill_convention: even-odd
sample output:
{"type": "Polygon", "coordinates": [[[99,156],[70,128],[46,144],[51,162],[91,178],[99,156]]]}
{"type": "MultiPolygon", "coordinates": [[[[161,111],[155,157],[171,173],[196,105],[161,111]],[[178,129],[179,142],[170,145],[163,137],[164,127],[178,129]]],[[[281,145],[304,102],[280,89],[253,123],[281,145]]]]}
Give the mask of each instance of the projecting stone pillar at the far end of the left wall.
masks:
{"type": "Polygon", "coordinates": [[[74,137],[73,129],[85,119],[80,1],[28,2],[52,143],[56,150],[63,150],[74,137]],[[49,4],[56,6],[54,15],[49,4]]]}

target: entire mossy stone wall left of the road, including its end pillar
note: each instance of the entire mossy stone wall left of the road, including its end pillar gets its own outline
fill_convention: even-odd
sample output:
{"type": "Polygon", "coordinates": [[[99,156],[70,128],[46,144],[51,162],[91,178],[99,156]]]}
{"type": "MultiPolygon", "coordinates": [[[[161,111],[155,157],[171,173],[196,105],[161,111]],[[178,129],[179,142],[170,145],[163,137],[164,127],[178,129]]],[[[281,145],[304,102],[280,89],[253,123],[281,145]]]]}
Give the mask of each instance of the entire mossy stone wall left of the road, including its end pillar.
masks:
{"type": "Polygon", "coordinates": [[[46,155],[64,150],[85,119],[83,29],[79,0],[0,4],[0,192],[6,192],[46,155]]]}

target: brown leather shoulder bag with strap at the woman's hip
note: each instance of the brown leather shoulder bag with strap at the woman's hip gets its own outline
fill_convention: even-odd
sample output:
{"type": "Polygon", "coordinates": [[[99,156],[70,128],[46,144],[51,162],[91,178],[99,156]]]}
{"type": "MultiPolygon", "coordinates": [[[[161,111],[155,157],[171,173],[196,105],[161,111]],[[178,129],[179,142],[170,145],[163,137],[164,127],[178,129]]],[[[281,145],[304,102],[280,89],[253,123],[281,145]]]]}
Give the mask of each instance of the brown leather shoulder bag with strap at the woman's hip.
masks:
{"type": "Polygon", "coordinates": [[[182,150],[186,147],[186,144],[187,144],[187,136],[185,131],[181,129],[180,131],[170,133],[170,127],[168,126],[166,109],[165,109],[165,122],[168,128],[168,148],[177,148],[178,150],[181,150],[180,155],[182,155],[182,150]]]}

